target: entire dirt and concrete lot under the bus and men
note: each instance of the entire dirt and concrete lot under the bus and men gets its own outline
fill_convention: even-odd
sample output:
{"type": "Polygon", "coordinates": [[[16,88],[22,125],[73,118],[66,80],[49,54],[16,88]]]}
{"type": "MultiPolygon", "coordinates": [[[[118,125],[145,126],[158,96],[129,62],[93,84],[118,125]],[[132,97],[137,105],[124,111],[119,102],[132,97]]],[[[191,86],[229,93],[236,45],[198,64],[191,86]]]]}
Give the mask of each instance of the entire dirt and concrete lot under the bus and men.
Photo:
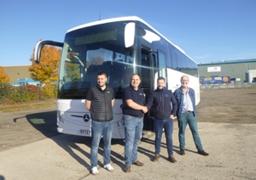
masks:
{"type": "Polygon", "coordinates": [[[186,155],[178,155],[177,121],[173,149],[177,163],[167,160],[162,138],[161,159],[153,162],[154,132],[144,132],[138,157],[145,166],[123,172],[124,141],[113,140],[115,171],[90,174],[90,138],[55,132],[55,110],[1,115],[0,179],[256,179],[256,88],[201,91],[198,127],[208,157],[196,154],[189,129],[186,155]]]}

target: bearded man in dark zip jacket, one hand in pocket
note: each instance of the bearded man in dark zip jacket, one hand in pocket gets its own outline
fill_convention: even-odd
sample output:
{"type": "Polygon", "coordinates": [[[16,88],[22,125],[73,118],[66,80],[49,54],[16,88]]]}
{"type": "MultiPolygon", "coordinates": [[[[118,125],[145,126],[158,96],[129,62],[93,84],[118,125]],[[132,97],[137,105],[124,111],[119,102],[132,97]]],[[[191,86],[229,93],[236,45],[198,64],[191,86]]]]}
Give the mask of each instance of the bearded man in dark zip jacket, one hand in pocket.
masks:
{"type": "Polygon", "coordinates": [[[153,106],[154,108],[154,161],[158,161],[160,159],[160,144],[162,138],[162,131],[164,128],[166,132],[166,144],[169,160],[172,163],[175,163],[177,162],[177,160],[174,159],[172,150],[172,129],[173,118],[176,115],[177,111],[177,101],[173,96],[172,91],[168,90],[165,85],[165,78],[159,77],[157,79],[157,89],[154,92],[150,93],[146,106],[148,110],[151,108],[151,106],[153,106]]]}

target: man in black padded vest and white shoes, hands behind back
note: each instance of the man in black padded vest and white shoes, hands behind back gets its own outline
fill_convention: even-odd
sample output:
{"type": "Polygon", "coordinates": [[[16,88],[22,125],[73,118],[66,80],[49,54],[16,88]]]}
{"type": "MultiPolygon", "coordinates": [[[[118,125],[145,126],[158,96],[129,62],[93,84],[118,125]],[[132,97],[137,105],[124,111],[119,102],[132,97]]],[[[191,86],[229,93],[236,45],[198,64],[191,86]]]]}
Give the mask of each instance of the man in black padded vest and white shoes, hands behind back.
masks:
{"type": "Polygon", "coordinates": [[[101,138],[104,140],[104,168],[112,172],[113,166],[110,165],[111,138],[113,132],[113,88],[108,87],[107,75],[100,72],[97,75],[96,87],[91,87],[86,96],[85,108],[90,110],[91,116],[91,147],[90,164],[91,173],[98,174],[98,149],[101,138]]]}

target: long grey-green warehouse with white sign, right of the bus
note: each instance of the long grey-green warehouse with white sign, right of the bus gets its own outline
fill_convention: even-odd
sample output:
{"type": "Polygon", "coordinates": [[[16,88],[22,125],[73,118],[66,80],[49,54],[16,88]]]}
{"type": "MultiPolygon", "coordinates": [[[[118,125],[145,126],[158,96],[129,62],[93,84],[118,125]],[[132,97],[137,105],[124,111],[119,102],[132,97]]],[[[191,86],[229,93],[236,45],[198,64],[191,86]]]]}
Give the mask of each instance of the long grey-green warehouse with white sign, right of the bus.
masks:
{"type": "Polygon", "coordinates": [[[200,76],[230,76],[234,82],[252,82],[256,77],[256,59],[222,60],[197,65],[200,76]]]}

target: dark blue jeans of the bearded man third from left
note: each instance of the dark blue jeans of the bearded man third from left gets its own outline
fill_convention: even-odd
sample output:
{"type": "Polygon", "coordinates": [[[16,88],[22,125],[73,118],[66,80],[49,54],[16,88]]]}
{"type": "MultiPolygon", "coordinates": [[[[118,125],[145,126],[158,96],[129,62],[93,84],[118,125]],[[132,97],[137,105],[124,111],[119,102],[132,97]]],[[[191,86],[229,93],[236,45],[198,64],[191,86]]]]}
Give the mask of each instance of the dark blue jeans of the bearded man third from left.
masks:
{"type": "Polygon", "coordinates": [[[166,133],[166,144],[168,155],[173,155],[172,150],[172,130],[173,130],[173,120],[168,118],[165,120],[154,119],[154,129],[155,129],[155,139],[154,139],[154,149],[155,155],[160,155],[160,146],[163,128],[165,128],[166,133]]]}

